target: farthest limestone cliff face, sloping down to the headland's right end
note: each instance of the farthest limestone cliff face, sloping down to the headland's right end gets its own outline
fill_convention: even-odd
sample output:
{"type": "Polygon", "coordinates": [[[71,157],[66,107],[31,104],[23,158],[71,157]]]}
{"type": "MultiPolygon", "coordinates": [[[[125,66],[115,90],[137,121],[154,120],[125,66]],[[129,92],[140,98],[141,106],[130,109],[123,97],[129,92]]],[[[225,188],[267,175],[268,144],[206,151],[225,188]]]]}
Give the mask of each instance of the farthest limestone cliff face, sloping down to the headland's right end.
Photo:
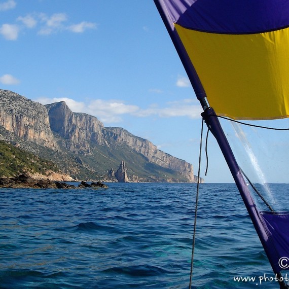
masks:
{"type": "Polygon", "coordinates": [[[187,177],[190,182],[195,182],[193,165],[184,160],[175,158],[157,149],[149,140],[137,137],[120,127],[107,127],[107,138],[119,143],[125,143],[135,152],[144,155],[152,163],[178,171],[187,177]]]}

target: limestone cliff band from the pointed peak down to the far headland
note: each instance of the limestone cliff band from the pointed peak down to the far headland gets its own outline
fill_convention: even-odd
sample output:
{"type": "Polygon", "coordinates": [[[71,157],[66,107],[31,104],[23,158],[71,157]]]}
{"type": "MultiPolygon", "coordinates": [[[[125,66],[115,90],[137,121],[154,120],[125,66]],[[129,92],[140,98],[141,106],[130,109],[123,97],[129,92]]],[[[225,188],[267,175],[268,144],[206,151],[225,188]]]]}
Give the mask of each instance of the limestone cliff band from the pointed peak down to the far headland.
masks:
{"type": "Polygon", "coordinates": [[[119,127],[104,127],[96,118],[87,114],[73,113],[64,101],[47,104],[51,129],[69,142],[66,149],[75,153],[90,153],[91,143],[111,149],[114,143],[129,147],[149,162],[179,172],[194,183],[193,166],[157,149],[149,140],[137,137],[119,127]]]}

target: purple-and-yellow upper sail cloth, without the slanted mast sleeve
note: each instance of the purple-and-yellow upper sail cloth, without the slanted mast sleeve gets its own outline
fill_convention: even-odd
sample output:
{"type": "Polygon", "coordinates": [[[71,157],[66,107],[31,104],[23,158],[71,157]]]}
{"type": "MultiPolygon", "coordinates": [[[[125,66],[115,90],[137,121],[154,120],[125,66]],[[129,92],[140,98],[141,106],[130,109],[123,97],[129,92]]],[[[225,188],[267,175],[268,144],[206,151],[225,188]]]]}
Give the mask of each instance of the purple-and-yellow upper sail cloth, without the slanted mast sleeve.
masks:
{"type": "Polygon", "coordinates": [[[158,2],[217,115],[289,116],[287,0],[158,2]]]}

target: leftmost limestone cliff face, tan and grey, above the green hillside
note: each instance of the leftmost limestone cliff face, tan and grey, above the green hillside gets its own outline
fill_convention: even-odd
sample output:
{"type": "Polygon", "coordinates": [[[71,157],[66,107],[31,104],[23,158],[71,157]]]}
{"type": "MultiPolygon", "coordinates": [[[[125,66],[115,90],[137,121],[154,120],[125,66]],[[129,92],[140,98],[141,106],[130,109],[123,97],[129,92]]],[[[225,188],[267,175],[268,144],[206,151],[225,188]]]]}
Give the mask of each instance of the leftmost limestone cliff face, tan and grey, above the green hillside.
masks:
{"type": "Polygon", "coordinates": [[[45,107],[17,93],[0,90],[0,125],[24,140],[57,149],[45,107]]]}

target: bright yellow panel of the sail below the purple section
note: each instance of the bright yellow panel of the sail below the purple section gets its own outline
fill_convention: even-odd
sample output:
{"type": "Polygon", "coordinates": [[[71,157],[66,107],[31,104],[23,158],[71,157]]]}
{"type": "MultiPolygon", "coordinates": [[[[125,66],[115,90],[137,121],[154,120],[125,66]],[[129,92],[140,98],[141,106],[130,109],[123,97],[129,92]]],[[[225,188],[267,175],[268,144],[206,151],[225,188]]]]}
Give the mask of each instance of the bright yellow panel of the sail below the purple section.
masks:
{"type": "Polygon", "coordinates": [[[289,28],[254,34],[175,28],[218,115],[289,116],[289,28]]]}

